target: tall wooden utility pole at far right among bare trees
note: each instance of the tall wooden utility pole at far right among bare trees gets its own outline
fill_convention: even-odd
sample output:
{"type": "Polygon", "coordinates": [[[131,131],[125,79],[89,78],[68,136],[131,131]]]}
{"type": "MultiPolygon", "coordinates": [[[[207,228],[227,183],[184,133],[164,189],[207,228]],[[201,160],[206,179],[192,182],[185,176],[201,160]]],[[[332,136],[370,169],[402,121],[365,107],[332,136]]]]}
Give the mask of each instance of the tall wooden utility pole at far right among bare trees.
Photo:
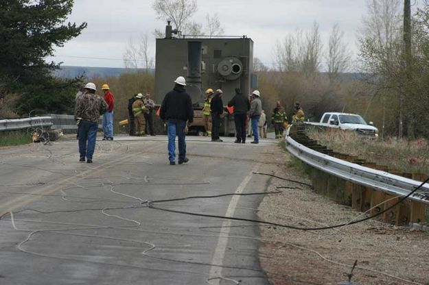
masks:
{"type": "MultiPolygon", "coordinates": [[[[408,82],[411,75],[411,4],[410,0],[404,0],[404,59],[405,59],[405,82],[408,82]]],[[[404,87],[399,94],[399,129],[398,137],[402,140],[404,134],[404,87]]]]}

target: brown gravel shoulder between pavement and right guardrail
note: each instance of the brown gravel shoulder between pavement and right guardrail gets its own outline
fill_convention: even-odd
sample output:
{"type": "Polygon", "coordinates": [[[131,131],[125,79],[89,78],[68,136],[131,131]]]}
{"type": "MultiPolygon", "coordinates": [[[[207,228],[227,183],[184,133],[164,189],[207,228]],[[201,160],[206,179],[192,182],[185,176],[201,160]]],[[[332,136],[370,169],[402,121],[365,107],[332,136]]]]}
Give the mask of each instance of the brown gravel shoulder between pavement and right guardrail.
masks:
{"type": "MultiPolygon", "coordinates": [[[[277,162],[282,161],[271,173],[311,184],[292,166],[288,153],[280,147],[270,151],[277,162]]],[[[281,194],[264,197],[258,212],[264,221],[320,227],[362,217],[308,186],[273,178],[268,190],[281,194]]],[[[353,284],[429,284],[429,232],[373,219],[316,232],[262,226],[261,235],[265,243],[259,249],[259,262],[271,284],[337,284],[347,281],[355,260],[353,284]]]]}

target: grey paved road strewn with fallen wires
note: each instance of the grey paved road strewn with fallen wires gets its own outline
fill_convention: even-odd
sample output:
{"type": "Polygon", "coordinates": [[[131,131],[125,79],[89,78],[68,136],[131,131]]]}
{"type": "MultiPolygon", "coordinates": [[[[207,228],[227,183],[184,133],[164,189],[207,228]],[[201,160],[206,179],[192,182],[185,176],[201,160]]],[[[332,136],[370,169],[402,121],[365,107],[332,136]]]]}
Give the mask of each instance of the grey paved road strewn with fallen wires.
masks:
{"type": "Polygon", "coordinates": [[[0,148],[0,284],[268,284],[257,227],[166,211],[256,219],[262,195],[159,201],[264,192],[276,142],[225,140],[188,137],[176,166],[165,136],[97,141],[93,164],[71,139],[0,148]]]}

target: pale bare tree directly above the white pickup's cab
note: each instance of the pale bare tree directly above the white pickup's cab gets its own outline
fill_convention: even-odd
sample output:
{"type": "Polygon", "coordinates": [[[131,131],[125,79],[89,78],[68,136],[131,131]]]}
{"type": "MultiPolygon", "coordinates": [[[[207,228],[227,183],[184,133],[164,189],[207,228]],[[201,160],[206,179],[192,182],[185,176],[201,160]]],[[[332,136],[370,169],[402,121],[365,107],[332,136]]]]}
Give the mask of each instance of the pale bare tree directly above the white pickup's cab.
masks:
{"type": "Polygon", "coordinates": [[[350,55],[347,45],[343,42],[344,32],[340,31],[338,23],[332,27],[327,46],[326,66],[331,79],[338,77],[338,73],[346,71],[349,67],[350,55]]]}

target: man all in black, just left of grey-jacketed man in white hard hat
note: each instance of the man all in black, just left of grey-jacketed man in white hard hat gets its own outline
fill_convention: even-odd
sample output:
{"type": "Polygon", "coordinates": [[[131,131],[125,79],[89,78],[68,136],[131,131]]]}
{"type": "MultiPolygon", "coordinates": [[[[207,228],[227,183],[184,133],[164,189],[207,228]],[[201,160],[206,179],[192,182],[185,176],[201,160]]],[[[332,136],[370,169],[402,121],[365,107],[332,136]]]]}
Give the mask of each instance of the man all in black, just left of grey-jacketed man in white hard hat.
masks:
{"type": "Polygon", "coordinates": [[[228,102],[228,107],[234,108],[235,134],[234,143],[246,143],[246,115],[251,108],[251,103],[242,95],[240,88],[235,88],[235,96],[228,102]]]}

